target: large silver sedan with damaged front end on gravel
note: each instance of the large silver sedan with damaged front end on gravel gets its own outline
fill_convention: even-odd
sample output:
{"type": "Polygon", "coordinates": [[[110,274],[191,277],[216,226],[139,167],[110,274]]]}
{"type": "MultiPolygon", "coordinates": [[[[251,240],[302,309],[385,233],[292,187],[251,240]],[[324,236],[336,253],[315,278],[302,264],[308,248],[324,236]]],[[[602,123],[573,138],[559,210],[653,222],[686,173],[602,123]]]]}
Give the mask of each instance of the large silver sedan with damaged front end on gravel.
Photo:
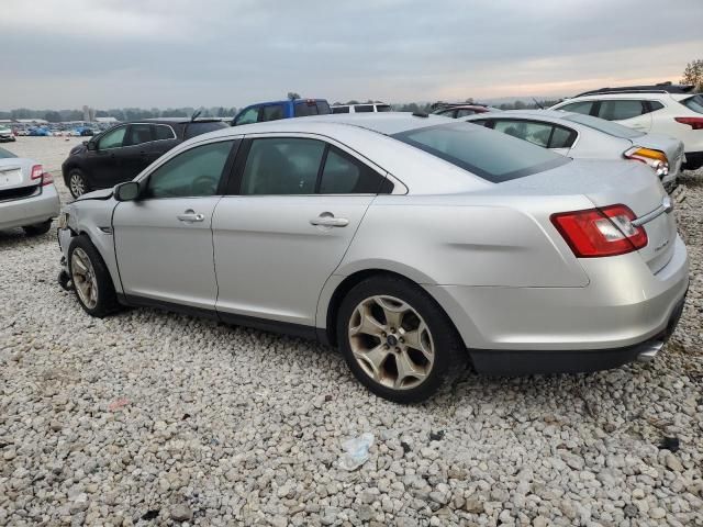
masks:
{"type": "Polygon", "coordinates": [[[652,170],[426,114],[205,134],[59,218],[93,316],[159,306],[341,348],[372,392],[651,359],[688,289],[652,170]]]}

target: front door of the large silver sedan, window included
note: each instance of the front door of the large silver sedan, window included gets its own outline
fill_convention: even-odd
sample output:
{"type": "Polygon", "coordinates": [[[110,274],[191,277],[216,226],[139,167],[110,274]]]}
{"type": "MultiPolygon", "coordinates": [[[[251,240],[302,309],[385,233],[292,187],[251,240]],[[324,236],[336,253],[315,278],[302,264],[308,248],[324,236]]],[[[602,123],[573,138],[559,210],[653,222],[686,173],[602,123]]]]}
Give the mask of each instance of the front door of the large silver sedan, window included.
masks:
{"type": "Polygon", "coordinates": [[[201,143],[140,180],[138,200],[115,208],[113,232],[127,298],[214,310],[212,215],[234,141],[201,143]]]}

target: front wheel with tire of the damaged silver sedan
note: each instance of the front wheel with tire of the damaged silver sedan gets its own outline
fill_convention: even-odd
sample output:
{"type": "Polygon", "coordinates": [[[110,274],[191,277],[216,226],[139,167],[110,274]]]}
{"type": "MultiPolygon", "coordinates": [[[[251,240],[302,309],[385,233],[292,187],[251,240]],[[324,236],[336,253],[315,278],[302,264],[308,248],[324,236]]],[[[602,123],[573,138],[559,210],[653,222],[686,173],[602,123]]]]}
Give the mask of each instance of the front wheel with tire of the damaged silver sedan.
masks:
{"type": "Polygon", "coordinates": [[[85,234],[76,236],[68,247],[68,272],[86,313],[102,318],[119,309],[110,272],[85,234]]]}

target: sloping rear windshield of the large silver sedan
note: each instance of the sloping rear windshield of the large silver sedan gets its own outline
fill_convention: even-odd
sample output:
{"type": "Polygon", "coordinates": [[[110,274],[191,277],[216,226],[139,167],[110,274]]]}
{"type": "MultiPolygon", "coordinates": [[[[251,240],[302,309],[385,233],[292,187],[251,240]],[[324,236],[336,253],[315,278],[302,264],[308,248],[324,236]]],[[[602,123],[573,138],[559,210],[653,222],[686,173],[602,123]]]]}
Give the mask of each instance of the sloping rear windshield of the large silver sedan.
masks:
{"type": "Polygon", "coordinates": [[[493,183],[524,178],[570,161],[526,141],[469,123],[409,130],[391,137],[493,183]]]}

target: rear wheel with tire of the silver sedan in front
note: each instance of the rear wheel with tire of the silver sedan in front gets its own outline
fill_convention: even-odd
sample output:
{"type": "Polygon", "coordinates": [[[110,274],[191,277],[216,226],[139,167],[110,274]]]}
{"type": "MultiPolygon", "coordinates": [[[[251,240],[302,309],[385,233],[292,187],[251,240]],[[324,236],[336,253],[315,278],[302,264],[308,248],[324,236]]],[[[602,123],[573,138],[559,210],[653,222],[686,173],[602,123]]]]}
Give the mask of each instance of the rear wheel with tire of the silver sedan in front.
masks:
{"type": "Polygon", "coordinates": [[[355,377],[397,403],[425,401],[465,371],[468,354],[429,294],[394,276],[368,278],[339,307],[337,341],[355,377]]]}

